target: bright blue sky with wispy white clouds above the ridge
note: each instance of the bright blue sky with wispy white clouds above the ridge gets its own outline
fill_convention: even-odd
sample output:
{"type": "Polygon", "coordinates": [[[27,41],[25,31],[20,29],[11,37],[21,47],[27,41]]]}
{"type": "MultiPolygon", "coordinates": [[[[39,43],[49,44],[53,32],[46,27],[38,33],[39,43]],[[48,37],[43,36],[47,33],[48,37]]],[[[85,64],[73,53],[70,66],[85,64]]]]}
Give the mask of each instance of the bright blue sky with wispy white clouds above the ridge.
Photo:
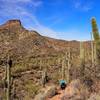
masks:
{"type": "Polygon", "coordinates": [[[20,19],[25,28],[56,39],[90,40],[92,17],[99,28],[99,0],[0,0],[0,24],[20,19]]]}

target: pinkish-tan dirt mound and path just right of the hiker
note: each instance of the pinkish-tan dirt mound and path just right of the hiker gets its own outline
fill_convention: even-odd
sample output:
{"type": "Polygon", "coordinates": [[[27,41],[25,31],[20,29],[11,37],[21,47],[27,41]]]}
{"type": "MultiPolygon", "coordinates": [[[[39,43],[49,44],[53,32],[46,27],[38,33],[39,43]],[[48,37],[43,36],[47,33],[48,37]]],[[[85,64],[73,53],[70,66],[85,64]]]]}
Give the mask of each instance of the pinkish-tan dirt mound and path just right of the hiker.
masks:
{"type": "Polygon", "coordinates": [[[62,98],[64,99],[64,97],[66,98],[66,100],[69,100],[69,98],[72,98],[74,100],[74,98],[81,98],[81,93],[83,93],[81,90],[81,83],[79,80],[74,80],[72,81],[70,84],[67,85],[67,87],[65,88],[65,90],[58,90],[57,91],[57,95],[55,95],[52,98],[49,98],[47,100],[61,100],[62,98]]]}

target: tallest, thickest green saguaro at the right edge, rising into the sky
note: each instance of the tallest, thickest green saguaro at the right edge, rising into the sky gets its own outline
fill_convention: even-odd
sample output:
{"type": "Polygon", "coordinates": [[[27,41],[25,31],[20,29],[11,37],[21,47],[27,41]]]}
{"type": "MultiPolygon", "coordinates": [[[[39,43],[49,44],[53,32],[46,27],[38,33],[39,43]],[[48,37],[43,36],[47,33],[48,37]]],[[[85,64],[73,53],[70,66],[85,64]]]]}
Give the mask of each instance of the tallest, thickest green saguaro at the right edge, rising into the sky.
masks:
{"type": "Polygon", "coordinates": [[[100,64],[100,34],[98,31],[98,27],[97,27],[97,23],[96,23],[95,18],[92,18],[91,24],[92,24],[93,38],[94,38],[94,42],[96,44],[97,60],[98,60],[98,63],[100,64]]]}

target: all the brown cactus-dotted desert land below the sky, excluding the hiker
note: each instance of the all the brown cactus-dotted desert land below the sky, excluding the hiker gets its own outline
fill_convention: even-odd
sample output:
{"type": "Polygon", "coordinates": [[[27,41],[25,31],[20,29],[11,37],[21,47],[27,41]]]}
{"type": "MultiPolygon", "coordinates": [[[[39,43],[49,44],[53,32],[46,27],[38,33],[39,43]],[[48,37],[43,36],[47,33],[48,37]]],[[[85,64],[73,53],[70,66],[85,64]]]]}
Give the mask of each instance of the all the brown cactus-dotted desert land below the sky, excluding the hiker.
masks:
{"type": "Polygon", "coordinates": [[[1,25],[0,99],[5,100],[9,91],[9,100],[99,100],[100,36],[96,25],[93,18],[94,40],[84,42],[42,36],[26,30],[17,19],[1,25]],[[45,87],[44,75],[48,77],[45,87]],[[67,81],[65,93],[59,86],[61,79],[67,81]]]}

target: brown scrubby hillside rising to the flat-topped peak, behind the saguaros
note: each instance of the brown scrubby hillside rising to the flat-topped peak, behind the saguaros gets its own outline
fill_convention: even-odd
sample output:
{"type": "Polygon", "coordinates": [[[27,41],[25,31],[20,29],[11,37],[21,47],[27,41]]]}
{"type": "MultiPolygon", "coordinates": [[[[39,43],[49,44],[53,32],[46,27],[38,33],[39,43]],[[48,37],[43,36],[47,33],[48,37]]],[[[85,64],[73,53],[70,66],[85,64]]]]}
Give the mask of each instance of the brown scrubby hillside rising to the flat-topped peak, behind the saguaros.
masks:
{"type": "MultiPolygon", "coordinates": [[[[85,48],[85,63],[89,66],[89,69],[87,67],[85,69],[87,76],[93,72],[91,71],[93,68],[91,68],[90,41],[84,42],[83,47],[85,48]]],[[[68,60],[65,59],[68,58],[69,52],[71,56],[70,80],[73,80],[81,77],[79,41],[65,41],[42,36],[36,31],[26,30],[17,19],[0,25],[1,100],[5,98],[4,81],[8,56],[13,62],[11,100],[33,100],[42,87],[40,85],[42,71],[46,70],[50,82],[57,84],[61,79],[62,62],[64,60],[67,66],[68,60]]]]}

